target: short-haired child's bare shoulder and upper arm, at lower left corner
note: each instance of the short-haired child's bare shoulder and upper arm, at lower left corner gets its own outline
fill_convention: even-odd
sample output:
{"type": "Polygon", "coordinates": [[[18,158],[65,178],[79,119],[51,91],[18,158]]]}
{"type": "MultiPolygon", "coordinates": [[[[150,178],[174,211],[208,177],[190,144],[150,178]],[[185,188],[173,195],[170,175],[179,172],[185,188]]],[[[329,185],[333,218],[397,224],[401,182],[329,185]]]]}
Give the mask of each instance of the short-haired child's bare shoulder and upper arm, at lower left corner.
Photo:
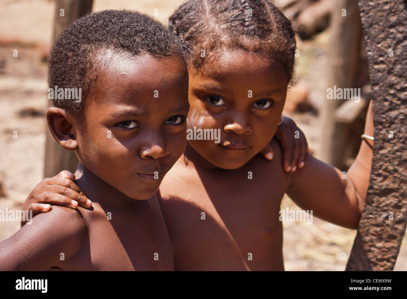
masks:
{"type": "Polygon", "coordinates": [[[72,257],[86,236],[85,222],[77,211],[55,206],[0,242],[0,271],[44,271],[61,264],[61,253],[65,260],[72,257]]]}

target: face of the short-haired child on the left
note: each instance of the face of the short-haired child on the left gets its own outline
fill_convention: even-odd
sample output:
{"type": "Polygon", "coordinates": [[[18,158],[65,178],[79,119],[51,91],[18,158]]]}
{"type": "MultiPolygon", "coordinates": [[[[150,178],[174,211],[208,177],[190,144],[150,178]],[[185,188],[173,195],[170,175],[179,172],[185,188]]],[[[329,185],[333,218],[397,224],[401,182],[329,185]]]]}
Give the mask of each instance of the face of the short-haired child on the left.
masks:
{"type": "Polygon", "coordinates": [[[83,166],[123,194],[149,199],[185,148],[188,73],[175,57],[104,55],[77,153],[83,166]]]}

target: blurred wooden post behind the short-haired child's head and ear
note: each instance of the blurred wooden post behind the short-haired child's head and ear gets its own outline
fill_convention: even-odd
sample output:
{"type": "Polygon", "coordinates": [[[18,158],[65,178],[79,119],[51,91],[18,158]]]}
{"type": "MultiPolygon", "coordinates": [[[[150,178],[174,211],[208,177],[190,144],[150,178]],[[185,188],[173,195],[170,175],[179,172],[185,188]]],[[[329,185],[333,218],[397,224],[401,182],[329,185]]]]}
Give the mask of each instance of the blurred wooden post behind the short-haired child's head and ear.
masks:
{"type": "MultiPolygon", "coordinates": [[[[77,18],[92,10],[92,0],[57,0],[55,6],[55,19],[52,40],[55,41],[64,28],[77,18]],[[63,16],[61,9],[63,9],[63,16]]],[[[52,103],[48,100],[48,107],[52,103]]],[[[66,169],[74,173],[78,166],[78,157],[75,152],[62,148],[52,137],[49,130],[46,133],[44,177],[53,177],[66,169]]]]}

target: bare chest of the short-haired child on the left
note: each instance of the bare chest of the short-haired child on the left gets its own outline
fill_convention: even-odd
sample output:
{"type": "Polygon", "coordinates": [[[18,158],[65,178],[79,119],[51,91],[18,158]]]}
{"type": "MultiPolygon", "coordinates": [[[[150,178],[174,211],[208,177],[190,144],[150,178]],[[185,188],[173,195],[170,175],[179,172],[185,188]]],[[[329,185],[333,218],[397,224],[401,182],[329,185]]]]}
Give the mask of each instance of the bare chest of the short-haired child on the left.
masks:
{"type": "Polygon", "coordinates": [[[173,271],[173,246],[160,211],[133,217],[98,212],[89,226],[89,242],[74,268],[97,271],[173,271]]]}

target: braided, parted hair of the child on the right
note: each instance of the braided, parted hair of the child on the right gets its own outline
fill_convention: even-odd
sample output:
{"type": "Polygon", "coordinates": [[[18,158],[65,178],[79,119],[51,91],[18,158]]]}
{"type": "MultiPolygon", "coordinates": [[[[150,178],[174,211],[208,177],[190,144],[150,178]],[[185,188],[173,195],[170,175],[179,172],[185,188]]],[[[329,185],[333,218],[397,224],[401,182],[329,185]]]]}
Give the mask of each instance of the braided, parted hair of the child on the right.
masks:
{"type": "Polygon", "coordinates": [[[197,70],[217,50],[243,49],[279,61],[289,80],[293,77],[291,22],[267,0],[190,0],[170,16],[168,26],[181,41],[188,66],[197,70]]]}

